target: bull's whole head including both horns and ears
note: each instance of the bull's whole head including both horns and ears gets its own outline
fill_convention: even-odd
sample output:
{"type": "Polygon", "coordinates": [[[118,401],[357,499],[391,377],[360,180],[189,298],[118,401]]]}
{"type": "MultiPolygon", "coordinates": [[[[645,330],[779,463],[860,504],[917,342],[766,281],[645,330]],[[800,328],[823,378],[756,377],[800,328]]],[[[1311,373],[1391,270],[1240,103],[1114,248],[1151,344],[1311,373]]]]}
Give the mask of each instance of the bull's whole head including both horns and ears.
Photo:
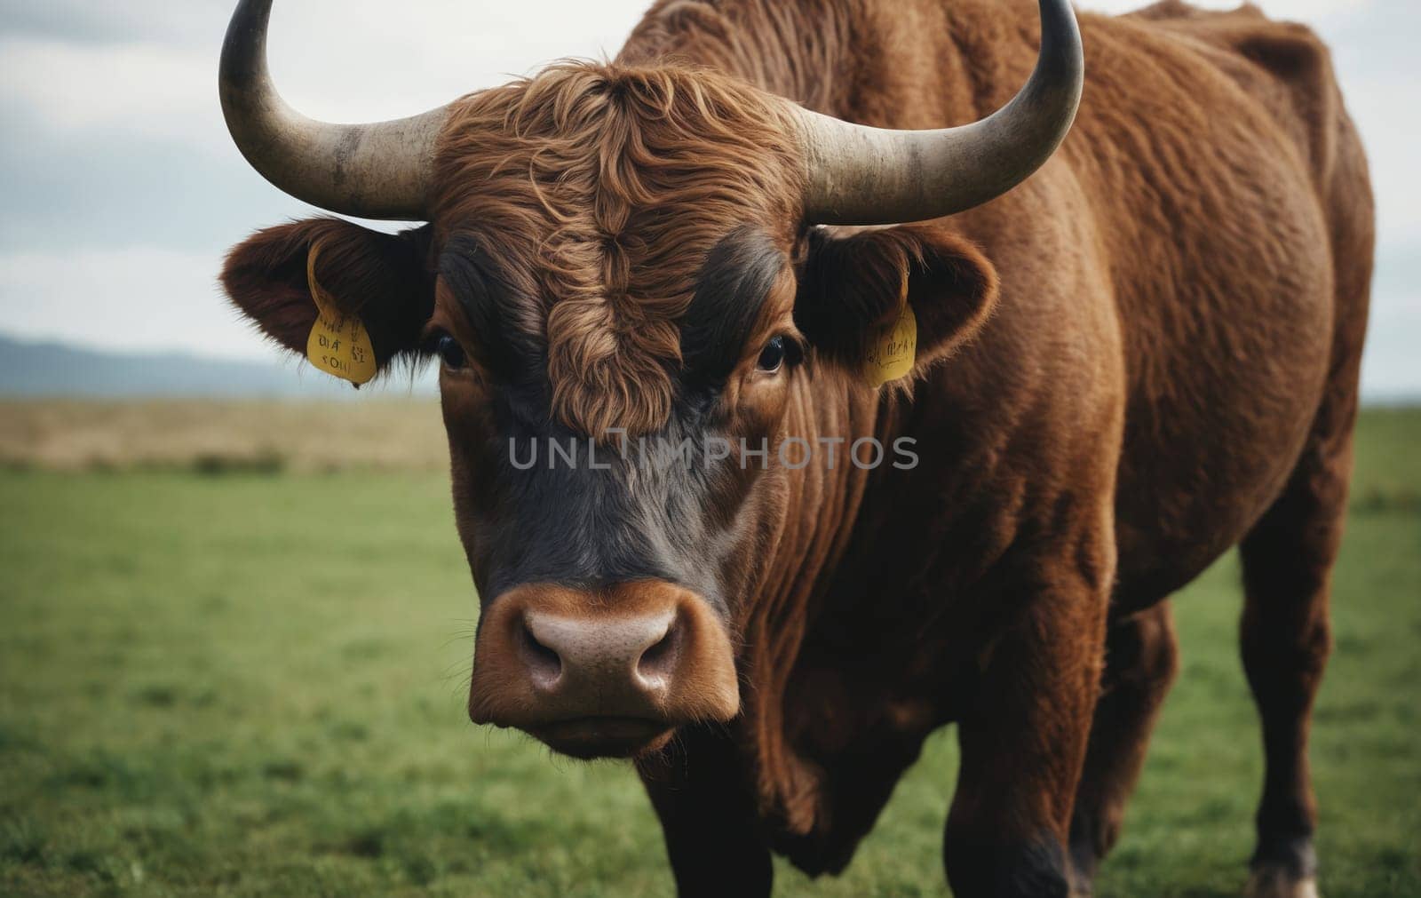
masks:
{"type": "Polygon", "coordinates": [[[951,215],[1040,166],[1080,97],[1069,3],[1042,1],[1040,58],[1010,104],[939,131],[847,124],[715,71],[615,64],[328,125],[276,94],[269,11],[243,1],[223,48],[242,152],[317,206],[428,224],[269,229],[233,250],[223,281],[293,350],[317,317],[314,280],[364,321],[381,367],[441,359],[483,602],[470,715],[578,756],[733,718],[746,610],[773,588],[757,558],[799,494],[783,466],[746,465],[742,440],[774,455],[813,431],[813,389],[851,379],[904,290],[919,367],[995,297],[989,263],[945,230],[811,226],[951,215]]]}

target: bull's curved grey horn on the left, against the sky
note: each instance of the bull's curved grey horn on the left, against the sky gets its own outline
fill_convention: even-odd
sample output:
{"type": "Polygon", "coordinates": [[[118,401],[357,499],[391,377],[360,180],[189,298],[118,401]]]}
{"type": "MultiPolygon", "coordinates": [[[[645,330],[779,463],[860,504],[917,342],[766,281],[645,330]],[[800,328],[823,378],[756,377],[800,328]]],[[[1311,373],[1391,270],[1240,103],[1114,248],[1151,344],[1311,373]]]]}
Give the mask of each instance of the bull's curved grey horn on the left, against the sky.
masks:
{"type": "Polygon", "coordinates": [[[435,139],[448,108],[333,125],[286,105],[266,63],[271,0],[242,0],[222,44],[222,112],[252,168],[291,196],[367,219],[425,217],[435,139]]]}

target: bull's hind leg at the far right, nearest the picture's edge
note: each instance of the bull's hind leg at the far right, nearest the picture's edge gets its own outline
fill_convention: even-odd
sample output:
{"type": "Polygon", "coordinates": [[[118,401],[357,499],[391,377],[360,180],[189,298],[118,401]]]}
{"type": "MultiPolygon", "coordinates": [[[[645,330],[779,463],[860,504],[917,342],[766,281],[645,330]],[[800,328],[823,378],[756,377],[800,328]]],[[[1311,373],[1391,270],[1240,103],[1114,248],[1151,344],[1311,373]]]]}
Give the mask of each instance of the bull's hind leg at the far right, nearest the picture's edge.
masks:
{"type": "Polygon", "coordinates": [[[1331,445],[1314,439],[1283,496],[1242,547],[1241,642],[1265,754],[1250,898],[1317,894],[1307,729],[1331,648],[1327,594],[1341,540],[1350,449],[1349,433],[1331,445]]]}

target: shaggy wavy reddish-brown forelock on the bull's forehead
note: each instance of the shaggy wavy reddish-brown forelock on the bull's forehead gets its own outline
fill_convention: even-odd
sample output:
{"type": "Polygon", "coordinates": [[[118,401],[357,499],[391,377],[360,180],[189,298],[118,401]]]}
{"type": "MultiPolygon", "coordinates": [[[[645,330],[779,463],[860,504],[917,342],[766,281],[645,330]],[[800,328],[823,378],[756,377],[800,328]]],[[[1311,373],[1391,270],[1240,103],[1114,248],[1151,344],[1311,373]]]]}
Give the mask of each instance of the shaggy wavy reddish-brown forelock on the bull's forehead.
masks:
{"type": "Polygon", "coordinates": [[[598,438],[665,423],[710,249],[753,224],[790,250],[790,134],[767,97],[676,65],[564,63],[456,104],[435,222],[506,270],[504,320],[546,342],[558,421],[598,438]]]}

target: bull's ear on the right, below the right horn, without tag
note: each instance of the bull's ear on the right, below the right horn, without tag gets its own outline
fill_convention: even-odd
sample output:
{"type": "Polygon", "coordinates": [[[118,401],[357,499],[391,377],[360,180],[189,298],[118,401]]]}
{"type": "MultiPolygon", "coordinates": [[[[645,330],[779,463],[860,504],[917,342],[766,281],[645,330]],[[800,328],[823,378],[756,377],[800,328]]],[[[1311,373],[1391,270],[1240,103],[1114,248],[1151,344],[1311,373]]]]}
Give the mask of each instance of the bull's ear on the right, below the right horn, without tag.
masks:
{"type": "Polygon", "coordinates": [[[901,308],[918,323],[914,372],[951,355],[996,305],[996,269],[971,242],[934,224],[834,237],[817,229],[800,273],[794,323],[817,358],[858,371],[870,341],[901,308]]]}

